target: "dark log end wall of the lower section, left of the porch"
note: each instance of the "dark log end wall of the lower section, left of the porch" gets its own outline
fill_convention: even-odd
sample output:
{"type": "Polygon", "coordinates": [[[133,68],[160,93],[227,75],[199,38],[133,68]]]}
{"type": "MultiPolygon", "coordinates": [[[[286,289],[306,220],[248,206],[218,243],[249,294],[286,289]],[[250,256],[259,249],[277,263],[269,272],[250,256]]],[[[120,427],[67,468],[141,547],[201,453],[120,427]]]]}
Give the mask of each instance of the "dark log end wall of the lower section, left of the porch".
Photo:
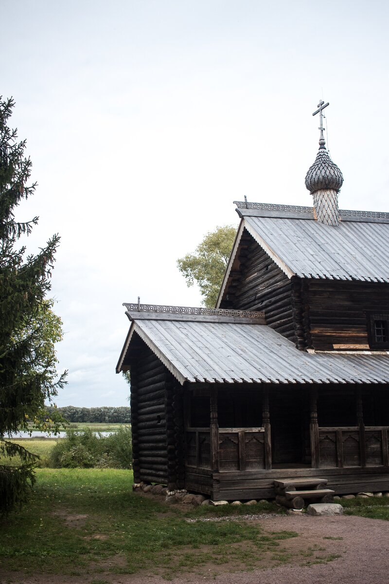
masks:
{"type": "Polygon", "coordinates": [[[180,384],[138,338],[131,363],[134,481],[180,488],[184,481],[184,429],[180,384]]]}

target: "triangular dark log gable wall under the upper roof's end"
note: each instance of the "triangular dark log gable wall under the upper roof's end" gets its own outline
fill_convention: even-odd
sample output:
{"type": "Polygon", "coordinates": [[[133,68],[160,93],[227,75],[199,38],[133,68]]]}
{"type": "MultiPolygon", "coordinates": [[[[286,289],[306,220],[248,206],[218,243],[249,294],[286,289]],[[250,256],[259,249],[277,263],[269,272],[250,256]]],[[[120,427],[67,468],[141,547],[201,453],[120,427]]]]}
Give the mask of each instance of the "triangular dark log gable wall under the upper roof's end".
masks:
{"type": "Polygon", "coordinates": [[[292,300],[292,281],[247,231],[237,254],[239,273],[230,277],[220,308],[264,310],[267,324],[296,342],[300,304],[298,294],[292,300]]]}

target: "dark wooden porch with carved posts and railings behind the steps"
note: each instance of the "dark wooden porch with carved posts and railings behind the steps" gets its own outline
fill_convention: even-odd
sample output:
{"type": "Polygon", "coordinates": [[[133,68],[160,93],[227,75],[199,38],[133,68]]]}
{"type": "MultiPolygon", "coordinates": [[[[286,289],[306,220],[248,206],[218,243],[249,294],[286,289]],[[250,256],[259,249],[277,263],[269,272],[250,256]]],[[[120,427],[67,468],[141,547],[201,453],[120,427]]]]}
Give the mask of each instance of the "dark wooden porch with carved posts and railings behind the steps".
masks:
{"type": "Polygon", "coordinates": [[[230,397],[223,389],[210,388],[208,396],[204,390],[201,396],[194,392],[185,400],[185,488],[209,493],[215,500],[269,498],[275,495],[275,479],[315,477],[318,469],[325,469],[319,475],[328,478],[328,487],[337,494],[389,491],[389,423],[382,423],[389,420],[383,389],[335,388],[334,393],[334,388],[261,387],[247,393],[242,388],[240,398],[233,396],[240,410],[234,417],[260,417],[261,425],[236,427],[219,427],[219,419],[232,420],[226,415],[230,397]],[[207,403],[209,425],[192,425],[204,422],[207,403]],[[364,412],[371,425],[365,426],[364,412]]]}

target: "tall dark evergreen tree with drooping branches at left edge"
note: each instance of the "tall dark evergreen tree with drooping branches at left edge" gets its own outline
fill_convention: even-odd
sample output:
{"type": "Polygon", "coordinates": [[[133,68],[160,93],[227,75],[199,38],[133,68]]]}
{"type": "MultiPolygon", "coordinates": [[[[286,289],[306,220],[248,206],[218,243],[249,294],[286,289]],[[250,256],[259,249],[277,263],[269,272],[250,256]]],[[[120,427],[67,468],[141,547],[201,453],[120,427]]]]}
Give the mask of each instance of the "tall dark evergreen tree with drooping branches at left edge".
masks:
{"type": "Polygon", "coordinates": [[[27,185],[31,161],[26,141],[17,141],[8,127],[13,99],[0,97],[0,512],[22,503],[34,483],[36,457],[6,440],[28,430],[29,420],[55,431],[58,420],[42,418],[45,399],[57,395],[66,372],[57,376],[54,343],[61,339],[61,321],[52,312],[50,276],[59,237],[54,235],[37,255],[27,255],[19,242],[29,235],[38,217],[15,220],[16,207],[33,194],[27,185]],[[10,457],[20,464],[7,464],[10,457]]]}

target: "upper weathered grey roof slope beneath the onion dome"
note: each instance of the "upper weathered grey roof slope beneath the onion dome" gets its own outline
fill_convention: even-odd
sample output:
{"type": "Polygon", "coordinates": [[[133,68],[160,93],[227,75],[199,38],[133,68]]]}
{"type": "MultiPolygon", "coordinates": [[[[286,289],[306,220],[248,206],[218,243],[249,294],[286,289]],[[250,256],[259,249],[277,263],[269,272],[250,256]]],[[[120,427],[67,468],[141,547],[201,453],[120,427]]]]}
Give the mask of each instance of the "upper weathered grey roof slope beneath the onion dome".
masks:
{"type": "Polygon", "coordinates": [[[389,282],[389,223],[246,216],[244,227],[289,277],[389,282]]]}

